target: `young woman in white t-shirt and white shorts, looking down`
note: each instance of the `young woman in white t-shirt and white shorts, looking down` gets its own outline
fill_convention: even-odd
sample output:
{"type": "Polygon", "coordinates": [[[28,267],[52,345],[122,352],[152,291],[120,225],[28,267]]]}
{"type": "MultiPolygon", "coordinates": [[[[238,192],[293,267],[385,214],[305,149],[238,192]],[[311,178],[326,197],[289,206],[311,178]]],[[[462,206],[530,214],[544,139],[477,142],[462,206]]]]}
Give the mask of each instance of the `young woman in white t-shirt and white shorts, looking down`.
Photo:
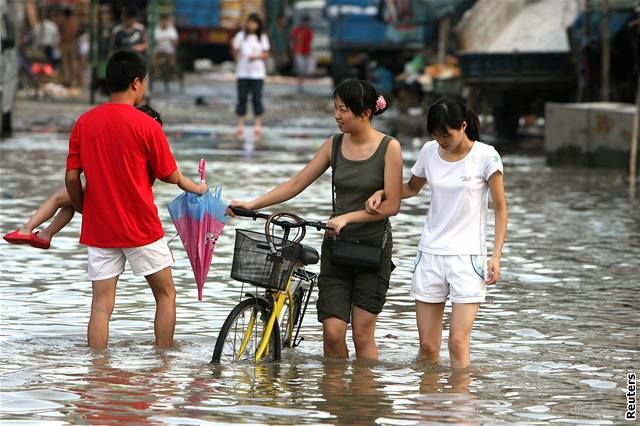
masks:
{"type": "MultiPolygon", "coordinates": [[[[443,98],[429,108],[427,129],[435,138],[424,144],[402,198],[413,197],[425,183],[431,203],[418,245],[411,295],[416,300],[420,352],[440,360],[442,316],[453,303],[449,355],[453,368],[469,366],[471,329],[484,302],[486,286],[500,277],[500,257],[507,229],[500,155],[479,142],[478,116],[459,100],[443,98]],[[486,226],[489,193],[495,211],[493,254],[487,262],[486,226]]],[[[378,191],[366,202],[376,214],[384,198],[378,191]]]]}

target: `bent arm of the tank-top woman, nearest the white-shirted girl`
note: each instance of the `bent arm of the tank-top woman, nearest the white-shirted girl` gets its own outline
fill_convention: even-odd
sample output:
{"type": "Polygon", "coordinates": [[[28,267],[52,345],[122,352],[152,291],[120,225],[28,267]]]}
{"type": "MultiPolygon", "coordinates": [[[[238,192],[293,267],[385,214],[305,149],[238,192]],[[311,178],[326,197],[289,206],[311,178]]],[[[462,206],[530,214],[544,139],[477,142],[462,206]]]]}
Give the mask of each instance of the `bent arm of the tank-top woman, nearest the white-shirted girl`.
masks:
{"type": "Polygon", "coordinates": [[[395,139],[389,143],[384,166],[384,193],[387,197],[378,207],[379,214],[369,214],[363,209],[335,217],[327,225],[336,234],[349,223],[375,222],[398,214],[402,195],[402,150],[395,139]]]}

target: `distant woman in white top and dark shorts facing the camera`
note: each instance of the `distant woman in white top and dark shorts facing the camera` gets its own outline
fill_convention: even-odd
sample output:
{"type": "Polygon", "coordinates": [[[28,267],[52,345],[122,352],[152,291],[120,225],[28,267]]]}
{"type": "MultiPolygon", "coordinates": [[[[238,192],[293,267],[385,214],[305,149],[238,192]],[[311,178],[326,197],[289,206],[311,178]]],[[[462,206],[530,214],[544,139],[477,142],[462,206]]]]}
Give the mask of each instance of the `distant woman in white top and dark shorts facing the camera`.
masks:
{"type": "Polygon", "coordinates": [[[255,13],[249,15],[245,29],[236,34],[232,43],[238,81],[238,127],[234,133],[237,138],[244,134],[249,94],[255,115],[255,136],[257,140],[262,137],[262,87],[267,75],[265,61],[269,58],[269,49],[269,38],[263,32],[262,19],[255,13]]]}

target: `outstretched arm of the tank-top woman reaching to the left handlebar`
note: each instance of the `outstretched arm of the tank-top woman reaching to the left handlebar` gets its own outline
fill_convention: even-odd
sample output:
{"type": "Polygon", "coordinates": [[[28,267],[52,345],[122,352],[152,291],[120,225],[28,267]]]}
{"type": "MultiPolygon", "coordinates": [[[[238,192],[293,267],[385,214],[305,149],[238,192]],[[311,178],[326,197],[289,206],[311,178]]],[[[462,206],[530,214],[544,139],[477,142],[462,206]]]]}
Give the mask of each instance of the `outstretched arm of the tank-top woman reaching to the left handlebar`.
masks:
{"type": "Polygon", "coordinates": [[[331,139],[325,141],[313,159],[294,177],[276,186],[266,194],[249,202],[231,201],[231,206],[248,210],[258,210],[290,200],[315,182],[329,168],[331,139]]]}

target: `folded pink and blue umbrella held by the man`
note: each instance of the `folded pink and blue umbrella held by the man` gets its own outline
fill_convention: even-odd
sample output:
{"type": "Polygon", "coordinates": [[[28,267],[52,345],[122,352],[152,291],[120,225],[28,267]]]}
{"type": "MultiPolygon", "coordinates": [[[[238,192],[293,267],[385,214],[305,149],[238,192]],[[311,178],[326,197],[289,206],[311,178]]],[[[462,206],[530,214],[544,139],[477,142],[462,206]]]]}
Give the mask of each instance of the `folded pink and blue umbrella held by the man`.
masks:
{"type": "MultiPolygon", "coordinates": [[[[199,171],[200,179],[204,182],[204,160],[200,160],[199,171]]],[[[168,205],[198,284],[198,300],[202,300],[202,289],[211,268],[213,250],[228,218],[224,214],[227,204],[221,200],[220,193],[219,187],[213,194],[210,191],[203,195],[185,192],[168,205]]]]}

